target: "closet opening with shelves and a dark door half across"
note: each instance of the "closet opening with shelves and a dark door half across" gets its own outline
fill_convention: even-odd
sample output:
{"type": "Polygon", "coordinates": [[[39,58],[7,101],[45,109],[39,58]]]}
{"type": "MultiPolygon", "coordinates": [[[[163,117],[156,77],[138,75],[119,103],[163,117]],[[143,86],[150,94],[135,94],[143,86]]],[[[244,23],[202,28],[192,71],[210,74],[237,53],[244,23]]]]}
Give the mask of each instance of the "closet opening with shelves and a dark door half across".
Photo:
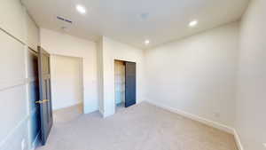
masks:
{"type": "Polygon", "coordinates": [[[116,110],[136,104],[136,63],[114,60],[114,101],[116,110]]]}

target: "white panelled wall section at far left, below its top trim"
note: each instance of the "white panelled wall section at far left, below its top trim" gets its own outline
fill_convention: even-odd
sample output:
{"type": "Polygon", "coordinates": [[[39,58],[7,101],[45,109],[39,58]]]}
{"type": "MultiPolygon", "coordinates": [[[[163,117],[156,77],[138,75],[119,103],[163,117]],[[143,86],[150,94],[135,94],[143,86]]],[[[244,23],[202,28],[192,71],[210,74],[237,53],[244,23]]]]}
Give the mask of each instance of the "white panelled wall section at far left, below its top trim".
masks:
{"type": "Polygon", "coordinates": [[[22,138],[27,138],[27,96],[26,96],[26,67],[25,47],[0,31],[1,40],[1,108],[0,117],[0,140],[1,148],[12,149],[7,143],[12,135],[20,136],[15,138],[14,144],[20,147],[22,138]],[[3,122],[3,123],[2,123],[3,122]],[[23,124],[23,125],[22,125],[23,124]],[[15,128],[20,128],[16,130],[15,128]],[[16,133],[14,133],[16,132],[16,133]],[[11,136],[9,136],[11,135],[11,136]]]}

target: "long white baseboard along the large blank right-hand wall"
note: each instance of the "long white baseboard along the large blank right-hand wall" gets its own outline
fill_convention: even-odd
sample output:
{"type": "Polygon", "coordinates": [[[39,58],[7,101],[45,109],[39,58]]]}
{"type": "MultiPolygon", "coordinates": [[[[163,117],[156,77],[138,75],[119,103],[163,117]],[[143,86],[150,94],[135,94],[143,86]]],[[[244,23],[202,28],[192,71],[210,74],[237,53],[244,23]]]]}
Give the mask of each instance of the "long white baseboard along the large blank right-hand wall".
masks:
{"type": "Polygon", "coordinates": [[[189,113],[186,113],[184,112],[183,110],[178,110],[176,108],[173,108],[173,107],[167,107],[165,105],[162,105],[162,104],[159,104],[159,103],[156,103],[156,102],[153,102],[153,101],[150,101],[150,100],[146,100],[146,102],[156,106],[156,107],[161,107],[163,109],[166,109],[170,112],[173,112],[173,113],[176,113],[176,114],[180,114],[184,117],[187,117],[187,118],[190,118],[194,121],[197,121],[197,122],[202,122],[208,126],[211,126],[211,127],[214,127],[215,129],[218,129],[218,130],[223,130],[223,131],[226,131],[228,133],[231,133],[231,134],[234,134],[234,129],[229,127],[229,126],[226,126],[224,124],[221,124],[219,122],[214,122],[214,121],[210,121],[210,120],[207,120],[205,118],[202,118],[198,115],[195,115],[195,114],[189,114],[189,113]]]}

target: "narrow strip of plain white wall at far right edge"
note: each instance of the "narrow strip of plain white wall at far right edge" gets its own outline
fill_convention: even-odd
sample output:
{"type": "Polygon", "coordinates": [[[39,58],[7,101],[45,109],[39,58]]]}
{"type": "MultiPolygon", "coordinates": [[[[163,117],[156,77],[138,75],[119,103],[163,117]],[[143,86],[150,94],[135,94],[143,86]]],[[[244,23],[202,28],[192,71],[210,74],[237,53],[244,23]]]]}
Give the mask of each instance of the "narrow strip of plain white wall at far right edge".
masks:
{"type": "Polygon", "coordinates": [[[245,150],[266,147],[266,1],[253,0],[240,29],[236,128],[245,150]]]}

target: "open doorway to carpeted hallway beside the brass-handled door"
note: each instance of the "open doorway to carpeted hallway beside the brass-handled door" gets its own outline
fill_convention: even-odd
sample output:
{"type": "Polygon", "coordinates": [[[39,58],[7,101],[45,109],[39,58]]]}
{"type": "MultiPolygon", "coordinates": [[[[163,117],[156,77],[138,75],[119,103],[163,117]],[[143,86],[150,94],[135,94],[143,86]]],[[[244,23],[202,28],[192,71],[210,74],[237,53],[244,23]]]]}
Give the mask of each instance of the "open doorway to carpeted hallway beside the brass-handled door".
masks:
{"type": "Polygon", "coordinates": [[[54,122],[83,114],[82,58],[51,55],[51,97],[54,122]]]}

